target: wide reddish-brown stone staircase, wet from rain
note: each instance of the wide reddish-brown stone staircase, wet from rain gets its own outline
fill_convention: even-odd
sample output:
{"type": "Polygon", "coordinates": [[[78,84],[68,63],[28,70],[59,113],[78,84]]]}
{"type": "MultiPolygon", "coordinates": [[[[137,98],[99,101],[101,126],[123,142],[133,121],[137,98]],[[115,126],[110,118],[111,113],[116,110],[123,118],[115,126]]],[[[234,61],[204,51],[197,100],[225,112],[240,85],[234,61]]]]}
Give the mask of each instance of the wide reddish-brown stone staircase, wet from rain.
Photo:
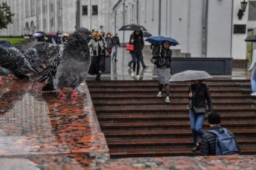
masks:
{"type": "MultiPolygon", "coordinates": [[[[242,154],[256,154],[256,106],[249,80],[206,82],[222,126],[239,141],[242,154]]],[[[171,102],[157,97],[155,80],[87,81],[110,154],[119,157],[198,156],[186,106],[189,83],[172,83],[171,102]]],[[[204,130],[208,130],[207,118],[204,130]]]]}

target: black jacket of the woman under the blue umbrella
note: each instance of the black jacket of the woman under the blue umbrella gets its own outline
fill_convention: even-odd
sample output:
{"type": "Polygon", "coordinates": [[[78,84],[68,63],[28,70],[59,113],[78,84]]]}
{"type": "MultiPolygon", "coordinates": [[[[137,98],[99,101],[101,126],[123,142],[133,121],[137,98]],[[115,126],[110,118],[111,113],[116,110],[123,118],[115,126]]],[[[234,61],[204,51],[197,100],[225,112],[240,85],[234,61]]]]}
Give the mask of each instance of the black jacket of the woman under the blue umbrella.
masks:
{"type": "Polygon", "coordinates": [[[172,50],[164,49],[163,46],[154,46],[152,49],[152,54],[154,58],[158,58],[157,68],[170,68],[170,61],[172,58],[172,50]],[[160,58],[164,59],[166,62],[164,64],[160,64],[160,58]]]}

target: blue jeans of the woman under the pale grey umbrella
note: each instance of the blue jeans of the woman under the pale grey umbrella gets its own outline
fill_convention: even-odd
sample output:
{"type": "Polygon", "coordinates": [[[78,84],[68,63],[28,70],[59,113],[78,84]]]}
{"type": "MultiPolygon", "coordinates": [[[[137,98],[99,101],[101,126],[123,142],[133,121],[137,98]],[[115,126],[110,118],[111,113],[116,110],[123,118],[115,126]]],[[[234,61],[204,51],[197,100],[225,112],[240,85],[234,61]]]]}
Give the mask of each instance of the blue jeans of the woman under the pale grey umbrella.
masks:
{"type": "Polygon", "coordinates": [[[205,114],[195,115],[194,111],[189,110],[190,129],[192,130],[194,144],[198,143],[198,136],[202,138],[202,135],[204,135],[204,131],[202,130],[204,117],[205,114]]]}

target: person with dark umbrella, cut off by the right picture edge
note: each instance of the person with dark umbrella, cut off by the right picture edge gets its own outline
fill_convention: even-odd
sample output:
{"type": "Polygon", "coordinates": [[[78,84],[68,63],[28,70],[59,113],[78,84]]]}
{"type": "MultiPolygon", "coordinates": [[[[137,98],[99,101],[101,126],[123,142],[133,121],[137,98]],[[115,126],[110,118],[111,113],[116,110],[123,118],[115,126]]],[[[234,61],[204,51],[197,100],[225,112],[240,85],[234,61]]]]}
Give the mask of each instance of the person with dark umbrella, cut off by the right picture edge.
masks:
{"type": "MultiPolygon", "coordinates": [[[[245,39],[246,42],[256,42],[256,35],[251,35],[245,39]]],[[[256,49],[252,52],[252,63],[248,69],[251,71],[251,96],[256,96],[256,49]]]]}

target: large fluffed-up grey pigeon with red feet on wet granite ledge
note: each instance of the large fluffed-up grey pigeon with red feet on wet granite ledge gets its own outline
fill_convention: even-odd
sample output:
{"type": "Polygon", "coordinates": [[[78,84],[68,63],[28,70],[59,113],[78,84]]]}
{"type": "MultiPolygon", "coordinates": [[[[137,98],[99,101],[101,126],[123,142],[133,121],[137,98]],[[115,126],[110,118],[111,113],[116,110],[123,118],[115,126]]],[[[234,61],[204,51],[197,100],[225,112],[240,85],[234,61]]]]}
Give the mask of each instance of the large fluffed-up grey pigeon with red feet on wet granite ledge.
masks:
{"type": "Polygon", "coordinates": [[[75,31],[69,39],[53,52],[50,65],[40,74],[38,82],[46,80],[43,91],[60,90],[65,97],[64,87],[72,88],[72,97],[77,97],[76,88],[86,79],[91,58],[87,36],[75,31]],[[48,73],[47,75],[45,73],[48,73]]]}

